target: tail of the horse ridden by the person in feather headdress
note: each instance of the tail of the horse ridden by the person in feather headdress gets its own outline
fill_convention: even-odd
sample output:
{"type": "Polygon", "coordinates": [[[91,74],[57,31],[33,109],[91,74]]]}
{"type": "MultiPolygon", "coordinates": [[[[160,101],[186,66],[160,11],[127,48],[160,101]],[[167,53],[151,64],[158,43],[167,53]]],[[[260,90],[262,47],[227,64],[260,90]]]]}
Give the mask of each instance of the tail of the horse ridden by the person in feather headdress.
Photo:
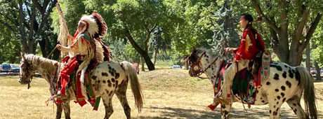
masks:
{"type": "Polygon", "coordinates": [[[141,91],[137,71],[133,68],[130,62],[124,61],[121,62],[121,65],[124,67],[127,78],[130,78],[131,90],[133,92],[133,97],[135,97],[135,104],[138,112],[141,112],[141,109],[143,108],[143,92],[141,91]]]}

